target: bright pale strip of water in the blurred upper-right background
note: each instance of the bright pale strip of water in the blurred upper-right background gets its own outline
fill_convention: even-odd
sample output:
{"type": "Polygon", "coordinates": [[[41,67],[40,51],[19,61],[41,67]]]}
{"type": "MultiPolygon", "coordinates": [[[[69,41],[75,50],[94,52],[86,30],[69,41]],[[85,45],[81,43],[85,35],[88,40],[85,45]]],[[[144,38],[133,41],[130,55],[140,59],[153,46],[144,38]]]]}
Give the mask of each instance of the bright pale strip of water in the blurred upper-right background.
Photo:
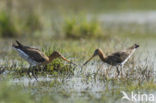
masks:
{"type": "Polygon", "coordinates": [[[105,23],[138,23],[154,25],[156,23],[156,11],[142,12],[123,12],[123,13],[108,13],[101,14],[99,20],[105,23]]]}

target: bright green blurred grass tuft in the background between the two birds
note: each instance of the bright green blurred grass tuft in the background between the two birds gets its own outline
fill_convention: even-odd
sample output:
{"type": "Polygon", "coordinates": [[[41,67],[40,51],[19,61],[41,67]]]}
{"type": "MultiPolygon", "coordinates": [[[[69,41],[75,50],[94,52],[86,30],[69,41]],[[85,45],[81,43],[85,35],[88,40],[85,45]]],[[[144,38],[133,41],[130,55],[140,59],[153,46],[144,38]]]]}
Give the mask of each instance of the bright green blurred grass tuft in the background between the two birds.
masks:
{"type": "Polygon", "coordinates": [[[64,32],[67,38],[100,38],[104,37],[100,23],[87,16],[72,16],[64,21],[64,32]]]}

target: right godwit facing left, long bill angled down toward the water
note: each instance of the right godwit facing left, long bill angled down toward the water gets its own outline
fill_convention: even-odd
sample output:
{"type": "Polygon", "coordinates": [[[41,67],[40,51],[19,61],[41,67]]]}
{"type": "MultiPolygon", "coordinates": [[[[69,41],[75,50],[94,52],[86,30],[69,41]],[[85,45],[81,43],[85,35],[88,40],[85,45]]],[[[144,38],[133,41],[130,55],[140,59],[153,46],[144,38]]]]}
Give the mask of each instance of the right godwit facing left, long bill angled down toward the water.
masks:
{"type": "MultiPolygon", "coordinates": [[[[116,66],[117,73],[119,75],[120,71],[118,69],[118,66],[123,67],[124,64],[127,62],[127,60],[134,54],[135,50],[138,47],[139,47],[138,44],[134,44],[133,46],[129,47],[126,50],[118,51],[118,52],[112,53],[108,56],[105,56],[103,51],[99,48],[99,49],[95,50],[93,56],[89,60],[87,60],[84,63],[84,65],[86,65],[91,59],[93,59],[95,56],[98,55],[103,62],[105,62],[109,65],[112,65],[112,66],[116,66]]],[[[122,70],[121,70],[121,72],[122,72],[122,70]]]]}

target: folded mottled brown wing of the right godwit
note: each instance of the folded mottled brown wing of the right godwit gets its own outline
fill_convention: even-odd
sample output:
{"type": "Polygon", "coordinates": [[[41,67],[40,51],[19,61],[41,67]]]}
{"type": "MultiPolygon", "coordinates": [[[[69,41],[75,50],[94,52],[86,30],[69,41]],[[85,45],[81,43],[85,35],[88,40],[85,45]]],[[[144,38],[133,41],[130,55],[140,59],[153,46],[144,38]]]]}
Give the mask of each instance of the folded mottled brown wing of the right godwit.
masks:
{"type": "Polygon", "coordinates": [[[129,53],[125,51],[119,51],[107,56],[105,60],[111,65],[117,65],[122,63],[128,57],[128,55],[129,53]]]}

